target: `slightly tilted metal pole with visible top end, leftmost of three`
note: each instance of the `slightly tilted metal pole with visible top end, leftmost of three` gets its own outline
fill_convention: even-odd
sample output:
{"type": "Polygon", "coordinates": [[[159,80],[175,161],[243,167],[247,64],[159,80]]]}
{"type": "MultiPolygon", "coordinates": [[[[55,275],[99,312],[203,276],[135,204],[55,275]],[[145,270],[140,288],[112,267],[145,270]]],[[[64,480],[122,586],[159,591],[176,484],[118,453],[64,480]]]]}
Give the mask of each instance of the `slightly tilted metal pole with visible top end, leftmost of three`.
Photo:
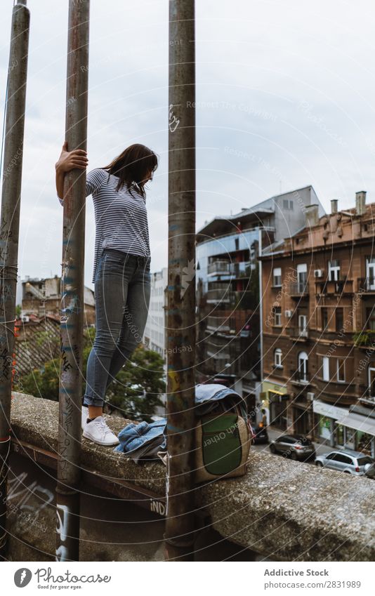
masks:
{"type": "Polygon", "coordinates": [[[30,13],[26,0],[13,6],[8,69],[4,173],[0,231],[0,559],[6,555],[6,498],[11,449],[11,392],[14,350],[15,293],[22,183],[23,135],[30,13]]]}

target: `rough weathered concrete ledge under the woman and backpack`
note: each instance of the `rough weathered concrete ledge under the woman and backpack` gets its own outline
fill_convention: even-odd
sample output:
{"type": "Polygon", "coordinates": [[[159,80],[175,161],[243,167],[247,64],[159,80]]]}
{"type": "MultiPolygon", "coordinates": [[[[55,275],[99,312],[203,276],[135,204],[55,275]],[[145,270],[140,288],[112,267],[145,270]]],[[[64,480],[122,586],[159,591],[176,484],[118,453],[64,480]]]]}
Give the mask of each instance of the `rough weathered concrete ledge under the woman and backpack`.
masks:
{"type": "MultiPolygon", "coordinates": [[[[13,394],[11,426],[30,444],[55,452],[58,404],[13,394]]],[[[114,432],[126,421],[109,418],[114,432]]],[[[162,463],[136,465],[121,453],[82,442],[82,466],[164,493],[162,463]]],[[[197,486],[197,508],[221,536],[270,559],[375,559],[375,482],[253,452],[248,473],[197,486]]]]}

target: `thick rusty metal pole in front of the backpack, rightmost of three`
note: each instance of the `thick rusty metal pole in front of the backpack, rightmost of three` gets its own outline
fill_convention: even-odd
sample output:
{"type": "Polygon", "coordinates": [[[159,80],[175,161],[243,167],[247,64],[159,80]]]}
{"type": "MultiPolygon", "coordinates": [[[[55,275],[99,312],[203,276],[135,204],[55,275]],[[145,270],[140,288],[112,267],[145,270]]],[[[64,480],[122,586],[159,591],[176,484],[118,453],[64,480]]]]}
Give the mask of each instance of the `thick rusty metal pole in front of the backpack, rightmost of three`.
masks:
{"type": "Polygon", "coordinates": [[[192,560],[195,439],[195,2],[169,2],[166,559],[192,560]]]}

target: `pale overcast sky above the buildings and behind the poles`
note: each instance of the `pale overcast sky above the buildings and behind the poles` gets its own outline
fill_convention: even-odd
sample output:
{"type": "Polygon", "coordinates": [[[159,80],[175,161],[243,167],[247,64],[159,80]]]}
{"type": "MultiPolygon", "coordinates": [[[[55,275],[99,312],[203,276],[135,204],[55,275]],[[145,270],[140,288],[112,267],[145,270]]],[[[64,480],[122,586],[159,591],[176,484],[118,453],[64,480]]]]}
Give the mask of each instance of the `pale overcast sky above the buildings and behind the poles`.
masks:
{"type": "MultiPolygon", "coordinates": [[[[20,274],[61,272],[54,164],[65,130],[67,0],[29,0],[20,274]]],[[[2,0],[4,110],[13,1],[2,0]]],[[[131,143],[160,167],[147,194],[152,270],[167,262],[167,0],[91,0],[89,169],[131,143]]],[[[197,0],[197,228],[313,185],[324,207],[375,202],[375,9],[370,0],[197,0]]],[[[86,211],[85,283],[95,225],[86,211]]]]}

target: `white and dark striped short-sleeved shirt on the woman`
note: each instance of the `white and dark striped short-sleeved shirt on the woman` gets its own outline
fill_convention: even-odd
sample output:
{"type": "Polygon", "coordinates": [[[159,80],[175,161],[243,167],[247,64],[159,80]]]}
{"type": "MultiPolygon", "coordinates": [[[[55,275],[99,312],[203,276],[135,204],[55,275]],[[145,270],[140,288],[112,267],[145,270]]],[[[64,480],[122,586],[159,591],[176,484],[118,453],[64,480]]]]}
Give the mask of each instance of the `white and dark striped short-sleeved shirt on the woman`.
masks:
{"type": "MultiPolygon", "coordinates": [[[[93,196],[95,211],[95,252],[93,279],[103,249],[117,249],[150,257],[147,209],[145,199],[132,189],[133,196],[122,187],[116,191],[119,178],[97,168],[87,174],[86,197],[93,196]]],[[[60,199],[63,204],[63,199],[60,199]]]]}

